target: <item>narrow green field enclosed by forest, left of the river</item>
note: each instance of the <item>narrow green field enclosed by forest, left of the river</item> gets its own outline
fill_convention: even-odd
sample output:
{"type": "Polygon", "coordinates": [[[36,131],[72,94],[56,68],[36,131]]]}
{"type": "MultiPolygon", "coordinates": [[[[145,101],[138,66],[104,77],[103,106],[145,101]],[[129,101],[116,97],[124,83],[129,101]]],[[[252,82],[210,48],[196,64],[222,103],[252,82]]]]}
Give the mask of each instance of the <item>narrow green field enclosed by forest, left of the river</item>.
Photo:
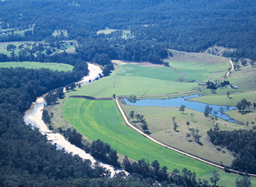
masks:
{"type": "Polygon", "coordinates": [[[58,70],[58,71],[72,71],[73,66],[68,65],[65,63],[40,63],[35,61],[22,61],[22,62],[16,62],[16,61],[9,61],[9,62],[0,62],[0,68],[1,67],[25,67],[25,68],[31,68],[31,69],[39,69],[39,68],[49,68],[52,70],[58,70]]]}

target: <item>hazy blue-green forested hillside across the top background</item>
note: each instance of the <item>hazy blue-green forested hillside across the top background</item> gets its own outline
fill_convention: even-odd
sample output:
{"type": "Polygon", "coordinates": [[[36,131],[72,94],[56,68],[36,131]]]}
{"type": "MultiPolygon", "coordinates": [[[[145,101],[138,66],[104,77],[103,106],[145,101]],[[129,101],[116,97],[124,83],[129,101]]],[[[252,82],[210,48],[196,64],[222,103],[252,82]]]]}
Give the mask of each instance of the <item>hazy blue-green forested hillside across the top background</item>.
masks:
{"type": "Polygon", "coordinates": [[[2,29],[35,25],[25,36],[5,35],[0,41],[53,39],[54,30],[64,29],[68,39],[83,43],[87,37],[104,38],[96,31],[109,27],[130,30],[134,36],[115,44],[139,40],[187,52],[218,45],[238,49],[228,56],[256,59],[255,4],[254,0],[1,1],[2,29]]]}

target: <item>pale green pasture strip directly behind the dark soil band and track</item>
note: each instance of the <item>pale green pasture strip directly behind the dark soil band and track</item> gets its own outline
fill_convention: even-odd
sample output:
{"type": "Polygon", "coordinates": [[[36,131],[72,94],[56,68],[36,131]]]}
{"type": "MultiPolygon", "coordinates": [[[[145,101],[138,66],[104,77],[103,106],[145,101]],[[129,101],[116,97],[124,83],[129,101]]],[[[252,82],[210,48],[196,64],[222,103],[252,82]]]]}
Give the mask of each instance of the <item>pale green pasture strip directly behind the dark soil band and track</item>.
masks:
{"type": "Polygon", "coordinates": [[[90,95],[93,97],[112,97],[116,95],[155,95],[193,90],[197,83],[172,82],[155,78],[138,76],[107,76],[87,84],[74,92],[74,95],[90,95]]]}

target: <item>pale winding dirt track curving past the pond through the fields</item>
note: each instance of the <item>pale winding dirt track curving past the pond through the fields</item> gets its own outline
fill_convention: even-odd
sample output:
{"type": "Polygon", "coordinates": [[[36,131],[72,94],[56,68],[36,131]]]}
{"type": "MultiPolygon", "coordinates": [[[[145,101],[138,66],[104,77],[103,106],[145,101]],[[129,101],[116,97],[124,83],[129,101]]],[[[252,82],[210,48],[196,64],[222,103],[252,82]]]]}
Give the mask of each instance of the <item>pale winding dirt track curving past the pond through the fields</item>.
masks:
{"type": "MultiPolygon", "coordinates": [[[[220,78],[219,80],[217,80],[217,82],[223,80],[223,79],[226,78],[228,75],[230,75],[231,71],[234,69],[234,65],[233,65],[233,63],[232,63],[232,60],[228,58],[228,61],[229,61],[230,65],[231,65],[231,69],[228,70],[228,72],[226,73],[225,76],[223,76],[222,78],[220,78]]],[[[205,88],[206,88],[206,87],[205,87],[205,88]]],[[[203,89],[205,89],[205,88],[203,88],[203,89]]],[[[177,93],[170,93],[170,94],[164,94],[164,95],[137,95],[137,97],[168,96],[168,95],[177,95],[177,94],[181,94],[181,93],[191,93],[191,92],[196,92],[196,91],[198,91],[198,90],[190,90],[190,91],[186,91],[186,92],[177,92],[177,93]]],[[[173,147],[171,147],[171,146],[167,146],[166,144],[160,143],[160,142],[157,141],[156,139],[150,137],[149,135],[143,133],[142,131],[140,131],[139,129],[137,129],[136,127],[134,127],[132,124],[130,124],[129,120],[128,120],[127,117],[125,116],[125,112],[123,112],[123,109],[121,109],[121,106],[119,105],[118,99],[119,99],[119,98],[123,98],[123,97],[127,97],[127,96],[116,97],[114,100],[115,100],[115,102],[116,102],[117,108],[119,109],[121,115],[123,116],[123,120],[125,120],[125,123],[126,123],[129,127],[131,127],[132,129],[134,129],[135,131],[137,131],[138,133],[140,133],[140,134],[143,135],[144,137],[150,139],[150,141],[152,141],[152,142],[154,142],[154,143],[156,143],[156,144],[159,144],[159,145],[161,145],[161,146],[163,146],[163,147],[165,147],[165,148],[168,148],[168,149],[173,150],[173,151],[175,151],[175,152],[179,152],[180,154],[183,154],[183,155],[188,156],[188,157],[190,157],[190,158],[194,158],[195,160],[202,161],[203,163],[207,163],[207,164],[212,165],[212,166],[214,166],[214,167],[217,167],[217,168],[219,168],[219,169],[224,169],[224,167],[221,166],[221,165],[217,165],[217,164],[212,163],[212,162],[210,162],[210,161],[203,160],[202,158],[198,158],[198,157],[196,157],[196,156],[193,156],[193,155],[188,154],[188,153],[186,153],[186,152],[182,152],[181,150],[178,150],[178,149],[173,148],[173,147]]],[[[240,172],[240,171],[235,171],[235,170],[233,170],[233,169],[226,169],[226,170],[228,170],[228,171],[230,171],[230,172],[232,172],[232,173],[237,173],[237,174],[242,174],[242,175],[249,175],[249,176],[251,176],[251,177],[256,177],[256,175],[254,175],[254,174],[248,174],[248,173],[244,173],[244,172],[240,172]]]]}

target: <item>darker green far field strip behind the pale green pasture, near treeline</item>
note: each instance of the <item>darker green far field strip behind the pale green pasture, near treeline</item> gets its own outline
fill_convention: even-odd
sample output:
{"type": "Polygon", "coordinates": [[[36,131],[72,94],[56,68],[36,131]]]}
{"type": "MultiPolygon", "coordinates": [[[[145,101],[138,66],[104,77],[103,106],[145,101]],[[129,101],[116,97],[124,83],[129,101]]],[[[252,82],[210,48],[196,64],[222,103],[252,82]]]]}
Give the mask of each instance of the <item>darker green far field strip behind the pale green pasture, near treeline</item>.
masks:
{"type": "Polygon", "coordinates": [[[171,67],[142,67],[129,63],[119,65],[119,67],[119,71],[116,73],[119,76],[140,76],[169,81],[175,81],[181,77],[171,67]]]}

